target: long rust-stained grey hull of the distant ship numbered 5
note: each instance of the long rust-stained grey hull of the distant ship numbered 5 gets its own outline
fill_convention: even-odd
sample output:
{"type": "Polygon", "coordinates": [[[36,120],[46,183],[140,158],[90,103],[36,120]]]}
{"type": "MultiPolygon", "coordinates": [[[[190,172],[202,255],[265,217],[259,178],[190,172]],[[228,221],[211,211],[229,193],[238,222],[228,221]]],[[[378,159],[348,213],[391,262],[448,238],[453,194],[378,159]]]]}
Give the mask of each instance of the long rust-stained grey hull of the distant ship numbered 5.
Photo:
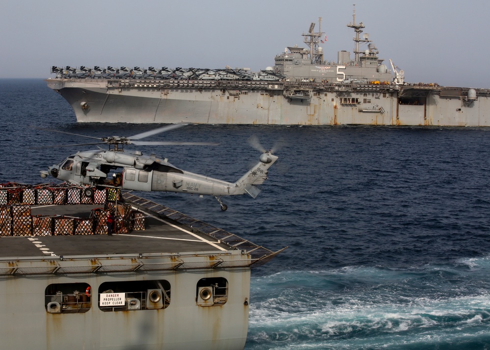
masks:
{"type": "Polygon", "coordinates": [[[490,98],[478,89],[468,100],[465,88],[87,80],[47,80],[78,122],[490,126],[490,98]]]}

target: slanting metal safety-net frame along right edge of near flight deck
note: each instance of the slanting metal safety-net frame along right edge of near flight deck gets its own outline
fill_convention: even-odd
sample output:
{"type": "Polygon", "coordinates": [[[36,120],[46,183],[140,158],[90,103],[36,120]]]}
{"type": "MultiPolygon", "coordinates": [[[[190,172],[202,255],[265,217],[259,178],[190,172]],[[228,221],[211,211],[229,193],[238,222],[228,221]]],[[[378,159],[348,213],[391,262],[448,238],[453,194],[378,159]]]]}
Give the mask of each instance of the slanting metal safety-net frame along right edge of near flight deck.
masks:
{"type": "MultiPolygon", "coordinates": [[[[246,239],[241,238],[233,233],[227,232],[221,228],[217,228],[213,225],[207,224],[203,221],[187,216],[181,212],[178,212],[164,205],[155,203],[151,200],[138,197],[129,192],[124,193],[123,198],[124,200],[130,201],[131,205],[140,207],[142,210],[150,211],[151,214],[155,216],[161,218],[168,218],[179,224],[191,226],[196,233],[197,232],[205,233],[208,236],[216,238],[233,248],[239,250],[245,250],[247,254],[250,254],[251,259],[253,261],[250,264],[250,266],[262,265],[268,262],[270,259],[272,259],[281,251],[288,248],[285,247],[281,250],[273,252],[272,250],[269,250],[262,246],[257,246],[256,244],[247,241],[246,239]]],[[[222,266],[222,264],[220,264],[220,266],[222,266]]]]}

